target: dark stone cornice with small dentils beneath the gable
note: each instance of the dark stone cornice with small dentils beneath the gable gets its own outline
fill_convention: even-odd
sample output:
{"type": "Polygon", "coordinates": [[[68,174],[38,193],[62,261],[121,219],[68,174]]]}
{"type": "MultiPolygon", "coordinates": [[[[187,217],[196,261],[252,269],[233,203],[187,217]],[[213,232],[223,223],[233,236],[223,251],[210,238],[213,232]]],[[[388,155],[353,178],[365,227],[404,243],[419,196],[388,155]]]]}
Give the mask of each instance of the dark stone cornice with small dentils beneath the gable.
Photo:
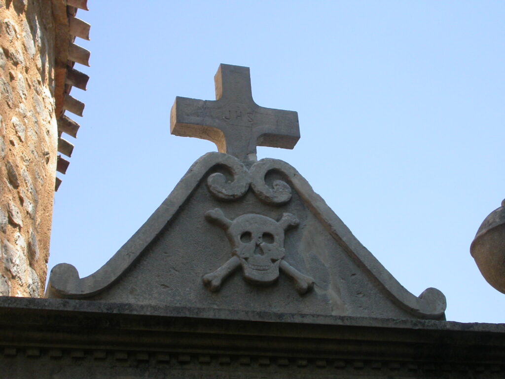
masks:
{"type": "Polygon", "coordinates": [[[16,379],[502,379],[505,370],[505,324],[2,297],[0,329],[9,330],[0,366],[16,379]]]}

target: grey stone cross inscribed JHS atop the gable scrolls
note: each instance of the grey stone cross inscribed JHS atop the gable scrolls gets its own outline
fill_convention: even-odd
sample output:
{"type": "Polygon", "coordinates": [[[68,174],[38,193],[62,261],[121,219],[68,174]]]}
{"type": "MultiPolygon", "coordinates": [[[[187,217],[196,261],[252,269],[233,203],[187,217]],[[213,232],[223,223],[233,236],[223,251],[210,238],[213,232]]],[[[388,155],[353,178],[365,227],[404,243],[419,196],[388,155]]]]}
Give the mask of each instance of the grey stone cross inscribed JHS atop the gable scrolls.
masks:
{"type": "Polygon", "coordinates": [[[256,160],[256,147],[293,149],[298,114],[263,108],[252,100],[248,67],[221,64],[214,76],[216,100],[176,97],[170,132],[212,141],[221,153],[256,160]]]}

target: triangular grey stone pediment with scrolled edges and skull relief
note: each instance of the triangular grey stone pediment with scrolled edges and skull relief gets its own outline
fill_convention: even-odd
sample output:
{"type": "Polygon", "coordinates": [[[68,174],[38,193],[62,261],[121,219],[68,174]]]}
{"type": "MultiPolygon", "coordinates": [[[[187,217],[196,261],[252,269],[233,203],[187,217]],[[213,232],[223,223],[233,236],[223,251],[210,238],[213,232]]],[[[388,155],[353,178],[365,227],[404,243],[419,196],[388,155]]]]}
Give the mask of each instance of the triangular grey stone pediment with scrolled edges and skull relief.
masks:
{"type": "Polygon", "coordinates": [[[198,159],[99,270],[59,264],[54,298],[316,315],[444,319],[408,292],[289,164],[198,159]]]}

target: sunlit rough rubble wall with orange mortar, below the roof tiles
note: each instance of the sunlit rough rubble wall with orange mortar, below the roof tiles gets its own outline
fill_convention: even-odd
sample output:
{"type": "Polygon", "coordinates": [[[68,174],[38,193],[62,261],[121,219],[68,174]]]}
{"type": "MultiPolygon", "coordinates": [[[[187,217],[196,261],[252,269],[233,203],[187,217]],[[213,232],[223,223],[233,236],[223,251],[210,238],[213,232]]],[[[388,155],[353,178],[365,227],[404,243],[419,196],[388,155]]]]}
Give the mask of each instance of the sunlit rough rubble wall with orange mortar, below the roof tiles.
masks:
{"type": "Polygon", "coordinates": [[[40,297],[58,126],[51,1],[0,1],[0,295],[40,297]]]}

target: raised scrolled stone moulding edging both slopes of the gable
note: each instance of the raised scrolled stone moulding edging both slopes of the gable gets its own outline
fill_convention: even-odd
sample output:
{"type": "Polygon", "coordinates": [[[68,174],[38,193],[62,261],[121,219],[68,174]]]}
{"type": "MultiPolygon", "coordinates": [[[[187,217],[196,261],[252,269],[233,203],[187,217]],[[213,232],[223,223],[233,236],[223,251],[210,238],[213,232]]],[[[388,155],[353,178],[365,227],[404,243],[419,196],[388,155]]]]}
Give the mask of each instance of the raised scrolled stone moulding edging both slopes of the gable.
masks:
{"type": "Polygon", "coordinates": [[[55,266],[49,276],[48,297],[86,298],[97,294],[116,281],[141,255],[164,226],[171,220],[191,195],[199,182],[216,165],[226,166],[234,178],[227,182],[224,175],[209,175],[207,184],[211,193],[221,200],[236,200],[251,187],[265,203],[283,204],[291,197],[291,188],[283,181],[274,181],[273,188],[265,183],[265,175],[271,170],[283,173],[311,212],[327,226],[331,236],[362,269],[385,290],[391,301],[409,313],[423,318],[443,316],[445,296],[434,288],[428,288],[419,297],[414,296],[382,266],[345,226],[310,184],[292,166],[275,159],[263,159],[247,170],[238,159],[222,153],[208,153],[198,159],[176,185],[174,191],[149,217],[123,247],[95,273],[79,278],[76,268],[63,263],[55,266]]]}

